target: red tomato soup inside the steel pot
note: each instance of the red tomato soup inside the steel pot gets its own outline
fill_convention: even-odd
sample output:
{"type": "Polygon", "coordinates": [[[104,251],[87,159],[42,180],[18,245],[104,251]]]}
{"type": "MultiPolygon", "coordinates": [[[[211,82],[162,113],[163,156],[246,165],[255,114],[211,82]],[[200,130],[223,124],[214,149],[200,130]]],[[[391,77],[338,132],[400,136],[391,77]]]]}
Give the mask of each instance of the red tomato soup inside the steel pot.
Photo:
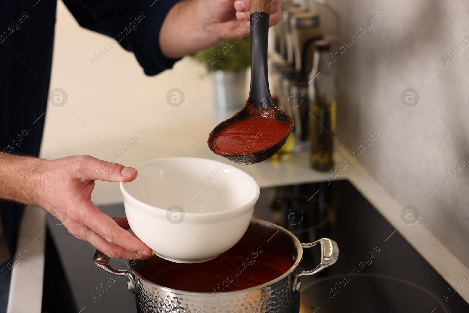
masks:
{"type": "Polygon", "coordinates": [[[219,293],[270,282],[292,266],[289,257],[262,247],[234,246],[219,257],[202,263],[174,263],[158,258],[141,274],[166,288],[219,293]]]}

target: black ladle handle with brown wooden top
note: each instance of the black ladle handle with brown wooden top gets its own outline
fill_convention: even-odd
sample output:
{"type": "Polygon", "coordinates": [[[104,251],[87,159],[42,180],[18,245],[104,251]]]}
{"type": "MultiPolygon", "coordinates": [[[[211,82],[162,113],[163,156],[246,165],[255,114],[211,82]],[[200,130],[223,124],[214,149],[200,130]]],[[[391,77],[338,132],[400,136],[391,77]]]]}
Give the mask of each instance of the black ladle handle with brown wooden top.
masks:
{"type": "Polygon", "coordinates": [[[267,73],[269,4],[269,0],[250,0],[249,6],[251,13],[251,88],[249,101],[256,107],[264,109],[272,105],[267,73]]]}

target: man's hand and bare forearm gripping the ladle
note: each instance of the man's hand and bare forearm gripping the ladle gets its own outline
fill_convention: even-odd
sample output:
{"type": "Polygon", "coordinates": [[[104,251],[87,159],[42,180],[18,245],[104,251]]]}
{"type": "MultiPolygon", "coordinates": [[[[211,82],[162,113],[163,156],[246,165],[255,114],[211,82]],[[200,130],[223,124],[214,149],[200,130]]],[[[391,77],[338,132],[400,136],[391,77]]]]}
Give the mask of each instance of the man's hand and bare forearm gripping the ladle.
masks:
{"type": "MultiPolygon", "coordinates": [[[[281,0],[271,0],[269,25],[280,22],[281,0]]],[[[159,32],[161,52],[180,58],[226,39],[250,34],[249,0],[183,0],[169,10],[159,32]]]]}

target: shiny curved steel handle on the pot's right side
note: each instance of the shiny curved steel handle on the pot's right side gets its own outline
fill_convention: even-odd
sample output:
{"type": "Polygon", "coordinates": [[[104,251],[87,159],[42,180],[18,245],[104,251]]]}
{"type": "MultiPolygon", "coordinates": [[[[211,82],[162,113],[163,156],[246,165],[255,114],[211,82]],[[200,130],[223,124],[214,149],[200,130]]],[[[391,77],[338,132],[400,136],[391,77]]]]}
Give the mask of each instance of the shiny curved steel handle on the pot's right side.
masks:
{"type": "Polygon", "coordinates": [[[321,244],[321,263],[311,271],[301,271],[295,275],[292,282],[293,294],[300,291],[301,289],[301,282],[298,281],[301,276],[314,275],[326,267],[333,265],[339,258],[339,247],[335,241],[329,238],[321,238],[310,244],[301,244],[301,246],[303,248],[311,248],[318,244],[321,244]]]}

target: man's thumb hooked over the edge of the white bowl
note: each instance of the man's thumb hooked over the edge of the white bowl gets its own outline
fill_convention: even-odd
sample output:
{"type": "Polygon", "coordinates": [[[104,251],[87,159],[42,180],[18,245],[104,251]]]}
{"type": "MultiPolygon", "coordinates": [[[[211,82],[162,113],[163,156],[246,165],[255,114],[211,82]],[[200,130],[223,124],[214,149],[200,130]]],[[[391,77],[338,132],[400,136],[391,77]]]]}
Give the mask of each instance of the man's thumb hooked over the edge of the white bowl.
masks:
{"type": "Polygon", "coordinates": [[[89,155],[76,157],[76,176],[80,179],[104,180],[107,182],[131,182],[137,177],[135,168],[106,162],[89,155]]]}

